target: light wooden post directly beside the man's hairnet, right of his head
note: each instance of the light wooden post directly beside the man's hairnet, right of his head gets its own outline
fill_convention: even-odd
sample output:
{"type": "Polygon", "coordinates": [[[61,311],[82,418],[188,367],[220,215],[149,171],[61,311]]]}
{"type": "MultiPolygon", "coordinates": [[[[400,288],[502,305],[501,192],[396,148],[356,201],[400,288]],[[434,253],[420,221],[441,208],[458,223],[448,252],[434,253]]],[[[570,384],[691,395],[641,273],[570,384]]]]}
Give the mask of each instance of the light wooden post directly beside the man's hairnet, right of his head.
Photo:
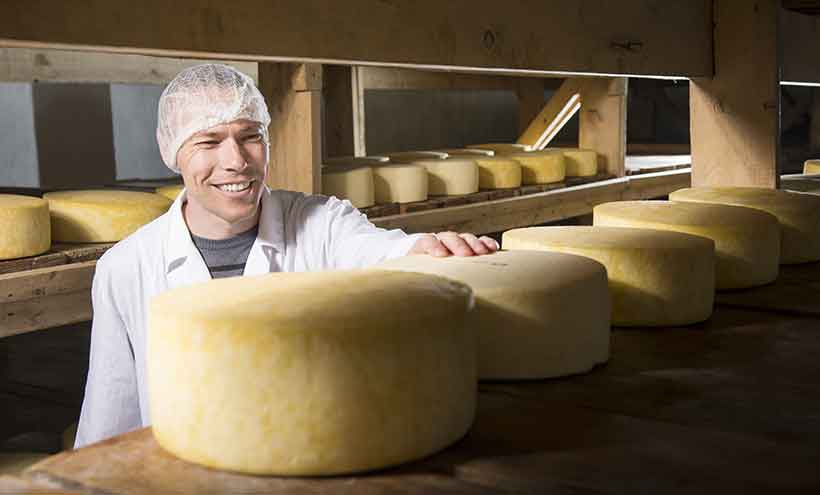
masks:
{"type": "Polygon", "coordinates": [[[259,89],[271,114],[267,184],[275,189],[320,192],[321,65],[260,63],[259,89]]]}

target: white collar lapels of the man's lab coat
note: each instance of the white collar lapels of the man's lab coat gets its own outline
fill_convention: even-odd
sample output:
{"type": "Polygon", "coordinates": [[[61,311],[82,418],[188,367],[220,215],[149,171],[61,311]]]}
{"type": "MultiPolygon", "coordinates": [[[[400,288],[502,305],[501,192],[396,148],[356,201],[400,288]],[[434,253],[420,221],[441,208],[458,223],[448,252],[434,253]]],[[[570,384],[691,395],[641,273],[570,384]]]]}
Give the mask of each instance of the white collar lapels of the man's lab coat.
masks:
{"type": "MultiPolygon", "coordinates": [[[[211,274],[202,255],[191,240],[188,225],[182,217],[182,204],[186,200],[183,189],[168,211],[168,233],[165,236],[165,275],[169,289],[204,282],[211,274]]],[[[259,231],[248,253],[243,275],[269,273],[273,266],[273,252],[284,250],[284,225],[282,208],[278,198],[265,186],[262,191],[262,212],[259,215],[259,231]]]]}

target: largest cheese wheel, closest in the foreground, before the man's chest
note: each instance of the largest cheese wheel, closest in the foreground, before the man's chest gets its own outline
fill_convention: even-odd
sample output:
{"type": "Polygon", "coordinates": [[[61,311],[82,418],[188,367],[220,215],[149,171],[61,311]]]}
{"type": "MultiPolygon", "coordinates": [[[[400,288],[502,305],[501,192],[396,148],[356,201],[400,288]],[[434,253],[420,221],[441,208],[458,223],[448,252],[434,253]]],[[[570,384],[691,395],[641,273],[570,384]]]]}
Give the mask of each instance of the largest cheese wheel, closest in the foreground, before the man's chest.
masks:
{"type": "Polygon", "coordinates": [[[164,292],[148,312],[154,436],[182,459],[254,474],[351,473],[430,455],[474,418],[472,305],[462,283],[378,270],[164,292]]]}

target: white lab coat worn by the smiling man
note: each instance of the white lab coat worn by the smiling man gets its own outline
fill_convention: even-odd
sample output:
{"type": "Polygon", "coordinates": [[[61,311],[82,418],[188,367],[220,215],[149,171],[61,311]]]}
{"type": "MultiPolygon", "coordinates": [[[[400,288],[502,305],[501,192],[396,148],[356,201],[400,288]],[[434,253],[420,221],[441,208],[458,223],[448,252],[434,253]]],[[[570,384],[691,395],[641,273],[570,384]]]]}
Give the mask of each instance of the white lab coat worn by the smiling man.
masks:
{"type": "MultiPolygon", "coordinates": [[[[146,310],[168,289],[209,280],[182,216],[171,208],[97,262],[91,356],[75,447],[151,424],[146,310]]],[[[243,275],[361,268],[405,255],[418,235],[377,228],[348,201],[291,191],[262,194],[259,232],[243,275]]]]}

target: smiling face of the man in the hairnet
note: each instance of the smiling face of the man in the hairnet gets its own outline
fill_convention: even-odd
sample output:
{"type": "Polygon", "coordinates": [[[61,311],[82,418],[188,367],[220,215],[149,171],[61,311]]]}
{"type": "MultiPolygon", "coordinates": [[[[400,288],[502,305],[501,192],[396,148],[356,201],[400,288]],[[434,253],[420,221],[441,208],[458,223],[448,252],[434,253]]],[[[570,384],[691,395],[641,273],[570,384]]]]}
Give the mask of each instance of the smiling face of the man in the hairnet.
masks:
{"type": "Polygon", "coordinates": [[[231,224],[255,216],[269,158],[262,132],[235,120],[191,136],[177,154],[188,200],[231,224]]]}

